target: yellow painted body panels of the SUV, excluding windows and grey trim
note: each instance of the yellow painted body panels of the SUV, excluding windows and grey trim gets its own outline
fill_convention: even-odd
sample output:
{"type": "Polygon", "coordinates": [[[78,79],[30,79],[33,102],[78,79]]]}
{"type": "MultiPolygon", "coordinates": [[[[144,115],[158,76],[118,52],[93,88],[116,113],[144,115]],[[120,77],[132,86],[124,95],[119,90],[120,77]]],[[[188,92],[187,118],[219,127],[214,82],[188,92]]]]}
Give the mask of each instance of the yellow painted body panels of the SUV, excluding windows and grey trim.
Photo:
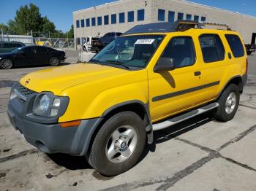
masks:
{"type": "MultiPolygon", "coordinates": [[[[50,91],[55,95],[69,96],[69,106],[65,114],[59,118],[59,122],[100,117],[111,106],[132,100],[142,101],[144,104],[149,103],[151,120],[157,122],[173,114],[200,106],[200,104],[214,101],[232,77],[245,74],[246,53],[243,58],[234,59],[232,55],[233,58],[230,60],[227,53],[231,53],[231,50],[225,39],[225,34],[237,33],[234,31],[190,29],[165,34],[165,39],[159,45],[146,69],[140,71],[127,71],[110,66],[79,63],[35,71],[20,79],[20,83],[25,85],[26,80],[30,79],[26,87],[31,90],[36,92],[50,91]],[[198,40],[200,34],[219,34],[226,51],[224,61],[203,62],[198,40]],[[161,74],[155,73],[154,66],[173,36],[192,36],[197,55],[196,62],[193,66],[166,71],[161,74]],[[195,77],[195,71],[201,71],[201,76],[195,77]],[[174,93],[217,81],[220,81],[219,85],[203,90],[161,101],[152,101],[152,98],[158,95],[174,93]]],[[[245,47],[244,51],[246,52],[245,47]]]]}

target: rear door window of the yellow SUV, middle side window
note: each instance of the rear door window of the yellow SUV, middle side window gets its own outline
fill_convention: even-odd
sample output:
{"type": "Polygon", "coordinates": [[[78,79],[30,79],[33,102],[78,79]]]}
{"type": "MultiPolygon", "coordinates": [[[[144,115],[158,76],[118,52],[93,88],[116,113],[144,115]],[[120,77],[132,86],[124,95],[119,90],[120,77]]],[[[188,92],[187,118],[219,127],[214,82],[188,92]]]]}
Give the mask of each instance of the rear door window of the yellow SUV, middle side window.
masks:
{"type": "Polygon", "coordinates": [[[199,36],[199,41],[205,63],[224,60],[225,49],[217,34],[202,34],[199,36]]]}

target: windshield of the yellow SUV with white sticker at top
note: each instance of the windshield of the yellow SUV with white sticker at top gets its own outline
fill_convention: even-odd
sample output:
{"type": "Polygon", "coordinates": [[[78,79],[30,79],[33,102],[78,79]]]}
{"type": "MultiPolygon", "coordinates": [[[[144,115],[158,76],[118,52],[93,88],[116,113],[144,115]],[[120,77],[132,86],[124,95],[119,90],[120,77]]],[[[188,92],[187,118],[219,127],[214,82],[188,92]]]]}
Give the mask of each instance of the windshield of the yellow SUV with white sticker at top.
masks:
{"type": "Polygon", "coordinates": [[[163,38],[163,35],[121,36],[108,44],[91,61],[126,68],[145,68],[163,38]]]}

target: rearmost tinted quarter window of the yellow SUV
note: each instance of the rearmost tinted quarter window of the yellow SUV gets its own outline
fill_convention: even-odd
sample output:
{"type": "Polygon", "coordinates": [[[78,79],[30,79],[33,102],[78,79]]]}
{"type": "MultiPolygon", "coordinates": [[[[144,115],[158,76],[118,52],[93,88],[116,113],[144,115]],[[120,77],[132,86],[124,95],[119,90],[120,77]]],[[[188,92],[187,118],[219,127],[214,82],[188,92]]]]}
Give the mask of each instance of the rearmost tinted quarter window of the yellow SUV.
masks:
{"type": "Polygon", "coordinates": [[[237,35],[234,34],[226,34],[226,39],[228,44],[230,44],[230,49],[233,52],[233,55],[238,57],[244,56],[244,46],[240,40],[240,38],[237,35]]]}

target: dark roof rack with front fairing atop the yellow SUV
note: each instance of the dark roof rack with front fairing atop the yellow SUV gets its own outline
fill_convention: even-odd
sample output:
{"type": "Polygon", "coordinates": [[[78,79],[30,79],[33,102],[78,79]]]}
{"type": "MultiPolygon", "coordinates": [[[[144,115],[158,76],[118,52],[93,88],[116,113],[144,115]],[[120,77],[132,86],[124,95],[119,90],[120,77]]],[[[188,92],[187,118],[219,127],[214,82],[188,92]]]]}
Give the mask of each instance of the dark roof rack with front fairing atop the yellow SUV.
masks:
{"type": "Polygon", "coordinates": [[[200,23],[193,20],[176,20],[174,23],[149,23],[145,25],[135,26],[129,31],[125,32],[126,34],[140,34],[140,33],[168,33],[176,31],[187,31],[190,28],[203,28],[203,26],[222,26],[227,27],[227,30],[231,30],[226,24],[220,23],[200,23]]]}

